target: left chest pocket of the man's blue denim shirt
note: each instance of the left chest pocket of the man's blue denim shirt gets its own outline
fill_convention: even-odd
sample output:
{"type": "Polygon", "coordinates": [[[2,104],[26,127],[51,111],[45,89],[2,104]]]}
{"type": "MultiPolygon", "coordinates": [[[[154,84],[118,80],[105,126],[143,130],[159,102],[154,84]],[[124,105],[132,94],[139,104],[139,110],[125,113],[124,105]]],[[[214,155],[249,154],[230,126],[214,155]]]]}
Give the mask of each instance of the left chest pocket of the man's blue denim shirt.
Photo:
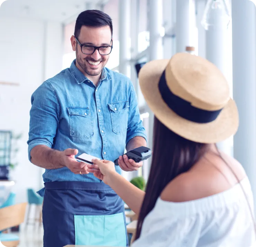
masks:
{"type": "Polygon", "coordinates": [[[70,135],[90,139],[93,136],[93,122],[89,107],[67,107],[70,135]]]}

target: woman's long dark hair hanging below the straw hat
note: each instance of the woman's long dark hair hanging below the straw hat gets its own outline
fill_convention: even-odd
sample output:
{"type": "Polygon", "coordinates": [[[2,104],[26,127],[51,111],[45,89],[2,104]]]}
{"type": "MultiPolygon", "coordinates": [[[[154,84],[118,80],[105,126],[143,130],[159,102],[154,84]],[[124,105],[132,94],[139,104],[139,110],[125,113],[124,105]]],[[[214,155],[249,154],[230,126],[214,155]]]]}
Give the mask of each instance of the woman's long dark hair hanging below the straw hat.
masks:
{"type": "Polygon", "coordinates": [[[175,177],[188,171],[207,152],[208,145],[185,139],[154,120],[154,148],[146,194],[140,209],[135,239],[147,214],[154,208],[157,198],[175,177]]]}

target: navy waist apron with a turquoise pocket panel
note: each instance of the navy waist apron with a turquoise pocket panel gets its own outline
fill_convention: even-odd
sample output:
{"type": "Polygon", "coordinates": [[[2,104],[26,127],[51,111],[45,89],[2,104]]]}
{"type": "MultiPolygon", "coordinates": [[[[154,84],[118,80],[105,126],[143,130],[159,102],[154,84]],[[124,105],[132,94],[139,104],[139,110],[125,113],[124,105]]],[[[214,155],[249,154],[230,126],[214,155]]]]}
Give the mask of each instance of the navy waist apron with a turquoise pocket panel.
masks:
{"type": "Polygon", "coordinates": [[[46,182],[44,247],[128,246],[124,202],[103,182],[46,182]]]}

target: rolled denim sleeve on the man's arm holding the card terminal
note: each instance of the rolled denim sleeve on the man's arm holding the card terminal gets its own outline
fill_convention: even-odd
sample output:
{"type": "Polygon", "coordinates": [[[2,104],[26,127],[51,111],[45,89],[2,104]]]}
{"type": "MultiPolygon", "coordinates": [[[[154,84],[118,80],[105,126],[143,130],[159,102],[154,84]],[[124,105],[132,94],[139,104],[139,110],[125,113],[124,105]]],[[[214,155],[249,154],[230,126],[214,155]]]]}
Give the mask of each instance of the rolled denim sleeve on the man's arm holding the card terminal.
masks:
{"type": "Polygon", "coordinates": [[[130,109],[129,109],[129,119],[128,119],[128,128],[126,135],[126,144],[134,137],[141,136],[147,141],[146,130],[143,126],[143,122],[140,118],[138,101],[135,89],[130,82],[131,94],[130,94],[130,109]]]}

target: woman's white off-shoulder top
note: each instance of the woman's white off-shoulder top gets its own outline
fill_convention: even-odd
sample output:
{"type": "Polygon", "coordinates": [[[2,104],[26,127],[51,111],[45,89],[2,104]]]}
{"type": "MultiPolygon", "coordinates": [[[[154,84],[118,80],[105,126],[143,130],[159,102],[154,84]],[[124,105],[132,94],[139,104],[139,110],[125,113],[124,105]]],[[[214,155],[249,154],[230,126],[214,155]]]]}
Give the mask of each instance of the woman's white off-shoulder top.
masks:
{"type": "Polygon", "coordinates": [[[169,202],[158,198],[132,247],[254,246],[249,206],[254,212],[248,177],[229,190],[197,200],[169,202]]]}

